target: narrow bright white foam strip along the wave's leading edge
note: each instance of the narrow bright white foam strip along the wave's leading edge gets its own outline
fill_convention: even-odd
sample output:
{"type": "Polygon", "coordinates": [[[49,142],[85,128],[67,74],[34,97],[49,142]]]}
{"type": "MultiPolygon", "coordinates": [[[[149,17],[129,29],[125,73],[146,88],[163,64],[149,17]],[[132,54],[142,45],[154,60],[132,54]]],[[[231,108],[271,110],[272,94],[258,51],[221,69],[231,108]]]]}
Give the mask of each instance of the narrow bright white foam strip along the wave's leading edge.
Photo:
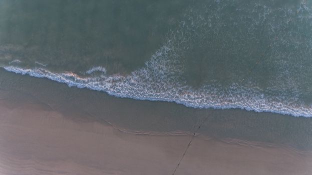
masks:
{"type": "MultiPolygon", "coordinates": [[[[102,91],[109,95],[119,97],[119,98],[130,98],[130,99],[143,100],[143,101],[148,100],[148,101],[174,102],[177,104],[182,104],[186,107],[200,108],[200,109],[208,109],[208,108],[242,109],[246,111],[270,112],[270,113],[277,113],[277,114],[282,114],[282,115],[291,115],[293,117],[311,117],[312,116],[311,108],[309,108],[308,105],[296,104],[296,105],[291,106],[290,104],[284,103],[282,101],[271,100],[271,98],[274,98],[274,96],[271,96],[271,97],[266,96],[263,98],[262,95],[265,92],[265,90],[259,91],[258,88],[253,89],[253,88],[247,88],[247,87],[239,87],[234,84],[232,84],[229,88],[240,89],[240,90],[226,97],[226,98],[231,98],[232,96],[233,99],[229,101],[226,101],[225,99],[223,99],[226,101],[224,102],[223,100],[220,100],[219,98],[214,97],[214,96],[217,96],[218,93],[216,94],[213,93],[213,95],[208,94],[207,96],[205,93],[203,93],[203,94],[199,94],[200,99],[212,98],[214,102],[211,102],[211,101],[209,102],[208,100],[202,104],[202,103],[198,103],[198,101],[196,100],[194,101],[192,97],[190,98],[187,97],[188,94],[190,94],[193,97],[198,95],[195,92],[193,93],[193,90],[191,88],[188,88],[187,90],[183,92],[179,92],[177,96],[170,96],[170,95],[168,96],[167,95],[168,93],[175,93],[175,92],[170,92],[170,91],[161,92],[159,94],[156,93],[156,95],[154,94],[146,95],[145,93],[149,93],[149,92],[145,91],[142,93],[142,91],[144,91],[144,87],[141,87],[140,83],[132,87],[132,85],[127,84],[127,81],[125,82],[123,82],[123,80],[120,81],[120,79],[127,79],[127,77],[131,77],[131,76],[123,76],[123,75],[107,76],[106,78],[101,78],[99,82],[98,81],[99,77],[84,78],[73,72],[55,73],[45,68],[31,69],[31,68],[21,68],[21,67],[11,66],[11,65],[3,66],[1,68],[4,68],[7,71],[14,72],[14,73],[21,74],[21,75],[29,75],[29,76],[33,76],[37,78],[48,78],[50,80],[57,81],[59,83],[65,83],[70,87],[87,88],[90,90],[102,91]],[[105,84],[102,84],[101,83],[102,81],[105,81],[105,84]],[[113,83],[115,81],[117,82],[117,84],[113,83]],[[121,87],[115,88],[115,86],[125,86],[126,89],[123,89],[121,87]],[[137,88],[140,90],[137,90],[137,88]],[[136,89],[136,90],[132,91],[131,89],[136,89]],[[252,98],[244,99],[244,100],[240,99],[241,96],[246,96],[246,95],[248,96],[249,93],[252,93],[252,98]],[[257,103],[257,101],[263,101],[263,100],[265,101],[264,103],[257,103]],[[249,101],[249,102],[246,103],[246,101],[249,101]],[[259,107],[259,106],[262,106],[262,107],[259,107]]],[[[137,74],[140,74],[140,73],[137,73],[137,74]]],[[[133,80],[130,80],[129,83],[132,84],[133,83],[132,81],[136,81],[137,78],[140,79],[139,77],[134,77],[133,80]]],[[[162,84],[162,85],[165,85],[165,84],[162,84]]],[[[170,88],[174,88],[174,87],[170,87],[170,88]]],[[[176,90],[178,91],[178,89],[176,90]]],[[[213,88],[210,89],[210,91],[213,91],[213,88]]],[[[224,95],[226,94],[225,92],[226,91],[222,92],[222,96],[223,96],[223,93],[224,95]]],[[[285,96],[279,96],[279,97],[285,97],[285,96]]]]}

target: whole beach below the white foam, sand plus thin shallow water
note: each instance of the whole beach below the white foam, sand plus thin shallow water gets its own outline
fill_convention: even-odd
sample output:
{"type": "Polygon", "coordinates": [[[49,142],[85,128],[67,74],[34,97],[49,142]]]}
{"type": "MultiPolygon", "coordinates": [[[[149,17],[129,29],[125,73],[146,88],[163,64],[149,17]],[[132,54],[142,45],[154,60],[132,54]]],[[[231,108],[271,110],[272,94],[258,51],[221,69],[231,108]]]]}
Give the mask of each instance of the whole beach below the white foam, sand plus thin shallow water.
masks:
{"type": "Polygon", "coordinates": [[[172,174],[182,156],[175,174],[312,174],[311,152],[311,118],[116,98],[0,69],[0,174],[172,174]]]}

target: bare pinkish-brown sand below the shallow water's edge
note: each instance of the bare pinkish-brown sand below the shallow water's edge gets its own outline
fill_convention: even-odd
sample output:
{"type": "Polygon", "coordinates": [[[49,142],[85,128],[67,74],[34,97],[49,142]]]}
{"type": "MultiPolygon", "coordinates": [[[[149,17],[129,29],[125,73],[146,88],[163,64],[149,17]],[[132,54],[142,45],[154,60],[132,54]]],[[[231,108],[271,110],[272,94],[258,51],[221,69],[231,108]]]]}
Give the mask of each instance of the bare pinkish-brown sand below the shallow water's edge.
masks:
{"type": "MultiPolygon", "coordinates": [[[[126,133],[0,100],[0,174],[172,174],[191,137],[126,133]]],[[[312,154],[198,135],[175,174],[312,174],[312,154]]]]}

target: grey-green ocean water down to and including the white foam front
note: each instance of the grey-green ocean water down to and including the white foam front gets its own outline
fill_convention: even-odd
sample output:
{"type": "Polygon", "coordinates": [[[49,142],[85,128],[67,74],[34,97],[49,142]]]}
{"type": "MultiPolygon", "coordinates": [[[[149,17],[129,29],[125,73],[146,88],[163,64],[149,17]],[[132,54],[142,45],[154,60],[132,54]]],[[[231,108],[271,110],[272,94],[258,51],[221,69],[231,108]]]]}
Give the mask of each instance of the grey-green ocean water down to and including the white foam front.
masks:
{"type": "Polygon", "coordinates": [[[0,0],[0,63],[118,97],[312,116],[310,0],[0,0]]]}

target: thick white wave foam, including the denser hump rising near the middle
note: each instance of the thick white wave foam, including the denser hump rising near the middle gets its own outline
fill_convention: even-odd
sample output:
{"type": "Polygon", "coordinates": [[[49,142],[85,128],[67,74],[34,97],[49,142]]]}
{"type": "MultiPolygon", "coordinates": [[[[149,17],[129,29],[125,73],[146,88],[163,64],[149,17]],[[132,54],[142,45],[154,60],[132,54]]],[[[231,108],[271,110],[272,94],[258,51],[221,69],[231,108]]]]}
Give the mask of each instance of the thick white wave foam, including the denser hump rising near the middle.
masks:
{"type": "Polygon", "coordinates": [[[101,75],[99,77],[80,77],[72,72],[54,73],[44,68],[21,68],[5,66],[8,71],[46,77],[69,86],[105,91],[118,97],[141,100],[174,101],[189,107],[198,108],[241,108],[257,112],[275,112],[293,116],[312,117],[312,106],[307,106],[296,96],[268,96],[258,87],[248,88],[233,83],[229,87],[210,84],[194,90],[175,80],[179,71],[177,62],[168,59],[171,48],[161,47],[146,62],[146,66],[133,71],[131,75],[101,75]],[[176,71],[175,73],[173,73],[176,71]]]}

